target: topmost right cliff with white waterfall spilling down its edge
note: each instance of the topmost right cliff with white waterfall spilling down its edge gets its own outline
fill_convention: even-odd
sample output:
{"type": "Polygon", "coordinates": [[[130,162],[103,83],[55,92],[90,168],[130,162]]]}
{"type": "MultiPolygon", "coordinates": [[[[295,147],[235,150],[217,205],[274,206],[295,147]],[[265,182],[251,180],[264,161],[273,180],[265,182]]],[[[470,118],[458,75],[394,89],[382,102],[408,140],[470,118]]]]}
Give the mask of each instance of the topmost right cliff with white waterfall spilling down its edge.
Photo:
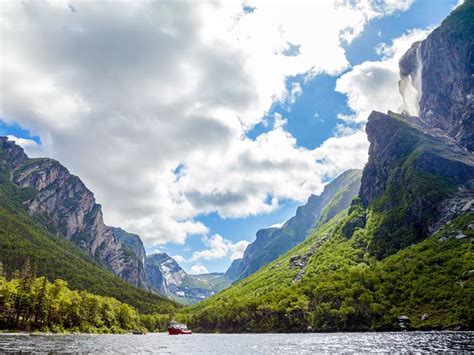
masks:
{"type": "Polygon", "coordinates": [[[405,113],[474,150],[474,2],[465,1],[400,60],[405,113]]]}

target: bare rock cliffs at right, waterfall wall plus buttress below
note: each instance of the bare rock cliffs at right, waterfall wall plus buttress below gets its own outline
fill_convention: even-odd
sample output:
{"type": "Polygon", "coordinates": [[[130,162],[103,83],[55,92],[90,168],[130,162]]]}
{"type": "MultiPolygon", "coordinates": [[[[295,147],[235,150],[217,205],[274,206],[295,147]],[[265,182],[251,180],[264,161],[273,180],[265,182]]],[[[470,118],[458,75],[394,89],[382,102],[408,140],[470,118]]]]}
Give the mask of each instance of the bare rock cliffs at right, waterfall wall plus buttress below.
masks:
{"type": "MultiPolygon", "coordinates": [[[[369,162],[359,196],[372,216],[371,249],[378,258],[472,209],[473,41],[474,1],[468,0],[400,60],[404,114],[369,117],[369,162]]],[[[365,221],[361,217],[354,223],[365,221]]]]}

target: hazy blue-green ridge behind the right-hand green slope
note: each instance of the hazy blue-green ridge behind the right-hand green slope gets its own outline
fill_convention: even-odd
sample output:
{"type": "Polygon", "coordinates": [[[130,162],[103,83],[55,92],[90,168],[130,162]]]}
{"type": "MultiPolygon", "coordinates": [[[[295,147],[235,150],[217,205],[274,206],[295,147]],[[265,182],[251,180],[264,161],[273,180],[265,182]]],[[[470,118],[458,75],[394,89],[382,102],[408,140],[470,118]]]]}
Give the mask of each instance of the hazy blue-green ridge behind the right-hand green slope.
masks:
{"type": "Polygon", "coordinates": [[[359,191],[361,175],[362,172],[355,169],[342,173],[324,187],[321,195],[311,195],[283,226],[259,230],[242,260],[234,260],[226,274],[233,280],[243,279],[301,243],[317,225],[349,206],[359,191]]]}

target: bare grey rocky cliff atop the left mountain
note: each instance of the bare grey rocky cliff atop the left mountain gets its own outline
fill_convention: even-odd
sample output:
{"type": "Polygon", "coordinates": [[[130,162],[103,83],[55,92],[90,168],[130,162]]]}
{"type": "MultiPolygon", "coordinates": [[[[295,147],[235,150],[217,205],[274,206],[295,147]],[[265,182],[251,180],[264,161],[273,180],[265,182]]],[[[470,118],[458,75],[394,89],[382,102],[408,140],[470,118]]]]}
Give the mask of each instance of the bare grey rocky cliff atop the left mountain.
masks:
{"type": "Polygon", "coordinates": [[[6,137],[0,137],[0,149],[11,181],[34,191],[34,197],[25,203],[31,215],[117,276],[146,288],[143,263],[138,263],[137,256],[104,224],[101,206],[77,176],[55,160],[29,159],[21,147],[6,137]]]}

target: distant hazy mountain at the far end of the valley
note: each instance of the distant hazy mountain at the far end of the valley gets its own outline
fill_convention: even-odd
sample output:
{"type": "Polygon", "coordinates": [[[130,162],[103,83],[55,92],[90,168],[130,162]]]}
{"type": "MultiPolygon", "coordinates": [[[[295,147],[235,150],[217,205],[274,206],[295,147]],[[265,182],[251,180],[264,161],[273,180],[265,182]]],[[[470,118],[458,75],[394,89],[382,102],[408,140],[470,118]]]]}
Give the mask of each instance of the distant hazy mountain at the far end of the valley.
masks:
{"type": "Polygon", "coordinates": [[[226,288],[231,282],[222,273],[187,274],[166,253],[147,256],[146,274],[152,289],[185,304],[202,301],[226,288]]]}

